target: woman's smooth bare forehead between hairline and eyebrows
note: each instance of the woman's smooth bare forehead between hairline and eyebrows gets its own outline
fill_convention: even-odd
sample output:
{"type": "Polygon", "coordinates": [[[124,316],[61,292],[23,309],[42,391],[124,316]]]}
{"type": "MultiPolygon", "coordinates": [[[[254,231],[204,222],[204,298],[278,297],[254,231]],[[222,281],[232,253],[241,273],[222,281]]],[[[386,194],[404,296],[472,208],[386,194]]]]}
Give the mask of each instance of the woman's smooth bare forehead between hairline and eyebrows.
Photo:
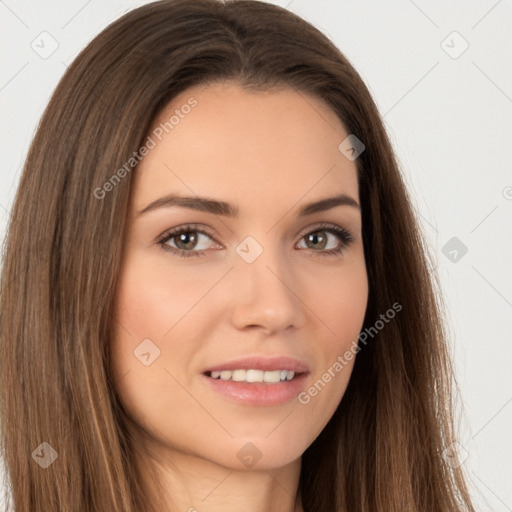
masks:
{"type": "Polygon", "coordinates": [[[155,145],[134,173],[136,207],[166,193],[208,195],[242,210],[261,210],[263,198],[358,198],[355,162],[338,149],[344,126],[321,100],[293,89],[193,87],[166,106],[149,136],[155,145]]]}

